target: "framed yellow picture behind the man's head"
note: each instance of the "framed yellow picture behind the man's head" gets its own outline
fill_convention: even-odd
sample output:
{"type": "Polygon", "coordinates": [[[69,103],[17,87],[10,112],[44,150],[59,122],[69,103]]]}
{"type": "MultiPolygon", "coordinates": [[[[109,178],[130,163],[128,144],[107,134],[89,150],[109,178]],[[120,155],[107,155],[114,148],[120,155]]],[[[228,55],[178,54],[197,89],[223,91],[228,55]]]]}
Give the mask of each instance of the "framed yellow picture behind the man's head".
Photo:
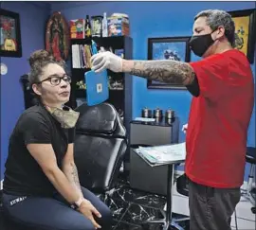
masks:
{"type": "Polygon", "coordinates": [[[247,55],[253,63],[256,41],[256,9],[229,11],[235,23],[234,47],[247,55]]]}

